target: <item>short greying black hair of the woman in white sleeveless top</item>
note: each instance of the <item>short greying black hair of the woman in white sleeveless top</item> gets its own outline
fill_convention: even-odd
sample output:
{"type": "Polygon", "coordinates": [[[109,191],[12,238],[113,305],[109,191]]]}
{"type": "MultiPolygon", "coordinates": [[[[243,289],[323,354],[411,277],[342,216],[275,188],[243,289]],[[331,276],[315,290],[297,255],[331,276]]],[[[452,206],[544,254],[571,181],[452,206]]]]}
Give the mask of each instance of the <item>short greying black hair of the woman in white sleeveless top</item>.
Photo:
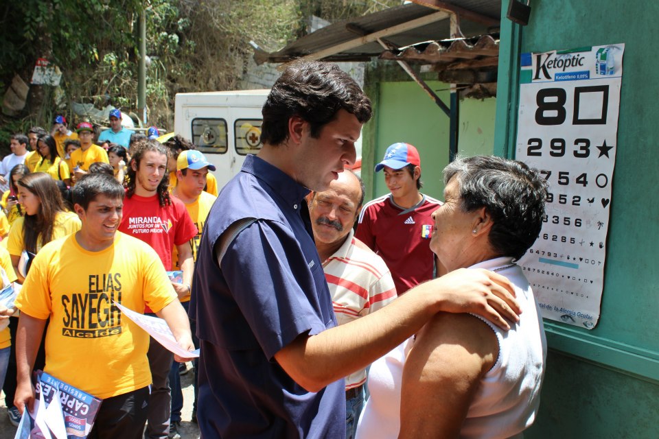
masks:
{"type": "Polygon", "coordinates": [[[535,169],[495,156],[456,157],[444,183],[457,178],[462,209],[485,207],[492,215],[489,244],[499,256],[520,259],[542,228],[547,184],[535,169]]]}

